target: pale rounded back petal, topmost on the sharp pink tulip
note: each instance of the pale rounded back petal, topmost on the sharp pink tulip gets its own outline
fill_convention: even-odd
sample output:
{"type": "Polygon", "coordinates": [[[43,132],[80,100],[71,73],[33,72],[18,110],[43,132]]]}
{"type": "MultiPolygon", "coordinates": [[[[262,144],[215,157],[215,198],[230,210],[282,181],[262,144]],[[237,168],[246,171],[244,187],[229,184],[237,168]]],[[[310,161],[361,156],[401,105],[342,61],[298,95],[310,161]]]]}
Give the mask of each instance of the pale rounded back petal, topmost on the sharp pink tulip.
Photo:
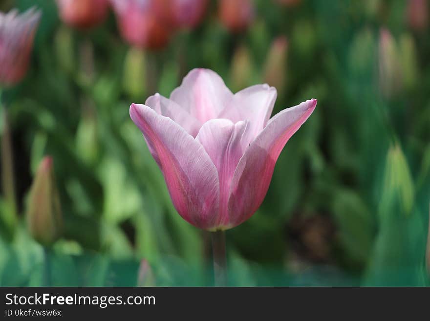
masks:
{"type": "Polygon", "coordinates": [[[220,111],[232,99],[233,93],[221,77],[210,69],[193,69],[172,91],[170,99],[187,108],[202,123],[217,118],[220,111]]]}

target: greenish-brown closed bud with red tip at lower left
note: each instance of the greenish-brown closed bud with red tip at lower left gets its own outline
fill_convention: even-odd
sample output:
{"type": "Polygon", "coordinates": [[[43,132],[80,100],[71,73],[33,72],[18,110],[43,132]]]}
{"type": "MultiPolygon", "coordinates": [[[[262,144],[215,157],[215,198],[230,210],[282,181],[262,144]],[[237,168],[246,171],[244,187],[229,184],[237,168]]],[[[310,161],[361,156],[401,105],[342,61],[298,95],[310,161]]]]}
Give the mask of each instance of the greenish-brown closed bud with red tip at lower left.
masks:
{"type": "Polygon", "coordinates": [[[34,239],[45,246],[53,244],[62,232],[60,198],[49,156],[43,158],[31,186],[27,223],[34,239]]]}

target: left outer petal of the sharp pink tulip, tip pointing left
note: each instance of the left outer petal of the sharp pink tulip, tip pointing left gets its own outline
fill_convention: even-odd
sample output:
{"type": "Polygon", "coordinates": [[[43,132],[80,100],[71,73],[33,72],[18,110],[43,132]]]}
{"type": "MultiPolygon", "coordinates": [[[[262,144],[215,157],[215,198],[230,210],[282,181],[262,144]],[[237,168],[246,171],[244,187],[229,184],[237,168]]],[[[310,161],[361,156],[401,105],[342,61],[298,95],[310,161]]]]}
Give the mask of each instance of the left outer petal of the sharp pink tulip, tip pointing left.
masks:
{"type": "Polygon", "coordinates": [[[131,104],[130,117],[154,153],[178,213],[196,227],[212,228],[218,213],[219,183],[203,146],[148,106],[131,104]]]}

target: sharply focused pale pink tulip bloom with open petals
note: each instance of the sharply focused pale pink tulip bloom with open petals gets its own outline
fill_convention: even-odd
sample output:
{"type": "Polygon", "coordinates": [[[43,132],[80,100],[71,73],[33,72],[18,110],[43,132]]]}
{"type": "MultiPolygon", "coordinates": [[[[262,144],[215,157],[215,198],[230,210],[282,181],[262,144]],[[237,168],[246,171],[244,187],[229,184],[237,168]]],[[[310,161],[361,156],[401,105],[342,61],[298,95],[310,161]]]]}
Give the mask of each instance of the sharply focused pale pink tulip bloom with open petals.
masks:
{"type": "Polygon", "coordinates": [[[226,230],[261,205],[278,156],[317,105],[315,99],[270,118],[277,92],[256,85],[233,94],[209,69],[194,69],[170,99],[131,104],[164,174],[173,205],[194,226],[226,230]]]}

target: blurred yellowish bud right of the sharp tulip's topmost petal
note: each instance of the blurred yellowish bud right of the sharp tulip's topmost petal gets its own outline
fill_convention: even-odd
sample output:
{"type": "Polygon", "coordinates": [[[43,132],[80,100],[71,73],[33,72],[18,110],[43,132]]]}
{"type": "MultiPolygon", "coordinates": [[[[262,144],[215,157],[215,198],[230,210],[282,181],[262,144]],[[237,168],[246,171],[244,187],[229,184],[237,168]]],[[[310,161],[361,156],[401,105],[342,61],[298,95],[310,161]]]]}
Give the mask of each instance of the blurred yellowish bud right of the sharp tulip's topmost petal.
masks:
{"type": "Polygon", "coordinates": [[[253,65],[248,48],[244,45],[239,46],[232,59],[231,83],[234,91],[241,90],[250,85],[252,69],[253,65]]]}

